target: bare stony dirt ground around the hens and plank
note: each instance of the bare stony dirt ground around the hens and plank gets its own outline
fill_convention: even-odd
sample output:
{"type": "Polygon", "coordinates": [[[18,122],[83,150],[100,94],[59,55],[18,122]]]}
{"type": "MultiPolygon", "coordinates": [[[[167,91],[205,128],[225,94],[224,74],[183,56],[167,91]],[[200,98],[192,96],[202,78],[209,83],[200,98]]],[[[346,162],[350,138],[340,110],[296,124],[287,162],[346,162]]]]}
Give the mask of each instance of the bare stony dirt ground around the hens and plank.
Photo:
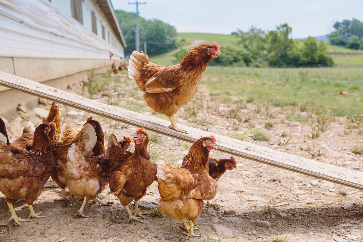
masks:
{"type": "MultiPolygon", "coordinates": [[[[130,108],[145,105],[141,92],[135,89],[135,85],[125,84],[126,81],[131,83],[132,80],[129,80],[125,73],[118,76],[121,84],[111,84],[110,95],[93,95],[93,99],[112,102],[117,98],[119,105],[129,105],[130,108]]],[[[363,169],[363,157],[351,152],[352,146],[363,145],[363,135],[360,135],[358,126],[351,125],[354,123],[352,120],[330,117],[325,131],[320,131],[319,138],[312,139],[311,126],[314,124],[287,120],[288,111],[283,108],[270,106],[267,107],[267,112],[266,107],[256,103],[245,103],[241,108],[234,104],[216,101],[213,103],[210,100],[204,102],[203,100],[208,98],[208,94],[205,94],[208,92],[205,90],[206,87],[200,86],[191,106],[186,106],[177,113],[178,123],[203,128],[215,134],[239,135],[246,142],[306,157],[316,162],[348,169],[363,169]],[[195,113],[191,114],[192,106],[201,108],[197,108],[194,110],[195,113]],[[237,112],[233,112],[236,108],[237,112]],[[273,122],[272,127],[265,125],[267,120],[273,122]],[[250,128],[251,123],[255,125],[254,128],[264,130],[270,141],[250,139],[248,136],[252,135],[253,130],[250,128]],[[281,136],[283,131],[286,136],[281,136]],[[285,144],[287,140],[289,141],[285,144]]],[[[74,85],[69,91],[87,96],[81,85],[74,85]]],[[[35,125],[40,124],[43,117],[40,118],[39,113],[47,113],[49,107],[50,102],[47,102],[39,104],[38,109],[19,111],[7,124],[9,139],[12,141],[21,134],[27,119],[35,125]]],[[[62,122],[74,127],[81,126],[90,115],[63,105],[60,111],[62,122]]],[[[151,111],[144,113],[151,114],[151,111]]],[[[309,115],[309,112],[295,110],[294,114],[303,117],[309,115]]],[[[316,116],[313,115],[311,118],[314,119],[316,116]]],[[[98,120],[103,126],[106,142],[112,133],[121,138],[136,131],[135,127],[96,115],[93,115],[93,119],[98,120]]],[[[177,165],[187,154],[191,145],[164,136],[150,135],[159,139],[149,146],[154,159],[165,159],[173,165],[177,165]]],[[[229,157],[218,151],[211,152],[211,156],[229,157]]],[[[211,225],[217,224],[233,232],[233,237],[224,238],[225,242],[272,241],[271,236],[280,234],[287,236],[289,241],[299,242],[363,241],[361,190],[323,180],[317,181],[313,177],[240,157],[236,157],[236,161],[237,169],[227,171],[218,181],[217,201],[213,201],[215,206],[205,206],[195,222],[195,227],[198,228],[195,234],[201,233],[202,239],[208,234],[218,237],[211,228],[211,225]],[[228,209],[235,210],[237,214],[232,218],[225,215],[224,212],[228,209]],[[271,227],[258,227],[255,225],[257,220],[269,221],[271,227]]],[[[46,218],[22,222],[21,226],[14,226],[12,221],[8,221],[10,212],[4,195],[0,194],[0,241],[200,241],[200,238],[184,239],[183,230],[179,227],[181,221],[168,217],[147,214],[143,224],[135,221],[128,223],[126,209],[115,196],[108,194],[108,191],[107,186],[99,197],[105,202],[113,202],[112,206],[99,207],[97,203],[88,201],[83,213],[90,217],[73,217],[81,207],[83,199],[72,197],[67,190],[69,202],[57,200],[57,196],[61,196],[61,189],[50,179],[33,204],[34,210],[43,211],[41,215],[45,215],[46,218]]],[[[141,201],[159,201],[157,182],[149,187],[141,201]]],[[[24,201],[15,204],[14,207],[19,217],[28,217],[29,209],[24,201]]],[[[134,205],[130,204],[130,209],[133,208],[134,205]]]]}

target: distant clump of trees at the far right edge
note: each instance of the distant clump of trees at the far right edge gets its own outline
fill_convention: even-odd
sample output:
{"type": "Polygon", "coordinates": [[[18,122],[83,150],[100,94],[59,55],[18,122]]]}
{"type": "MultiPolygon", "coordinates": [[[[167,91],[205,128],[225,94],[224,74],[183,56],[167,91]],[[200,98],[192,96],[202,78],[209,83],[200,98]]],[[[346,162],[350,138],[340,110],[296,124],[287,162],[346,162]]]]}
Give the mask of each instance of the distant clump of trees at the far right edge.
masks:
{"type": "Polygon", "coordinates": [[[329,34],[332,45],[343,46],[349,49],[363,49],[363,22],[358,19],[335,22],[335,31],[329,34]]]}

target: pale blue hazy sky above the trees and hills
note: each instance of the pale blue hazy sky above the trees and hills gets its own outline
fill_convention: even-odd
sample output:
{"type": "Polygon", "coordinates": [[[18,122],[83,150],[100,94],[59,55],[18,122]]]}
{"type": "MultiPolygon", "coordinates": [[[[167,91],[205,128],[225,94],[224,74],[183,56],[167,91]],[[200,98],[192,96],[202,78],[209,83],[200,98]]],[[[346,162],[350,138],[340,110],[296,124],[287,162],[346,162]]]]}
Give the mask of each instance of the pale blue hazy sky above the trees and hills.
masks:
{"type": "MultiPolygon", "coordinates": [[[[111,0],[115,10],[134,13],[136,5],[128,3],[135,2],[111,0]]],[[[336,21],[353,17],[363,21],[363,0],[147,0],[139,5],[139,15],[170,24],[178,33],[231,34],[252,25],[275,30],[287,23],[293,38],[306,38],[334,31],[336,21]]]]}

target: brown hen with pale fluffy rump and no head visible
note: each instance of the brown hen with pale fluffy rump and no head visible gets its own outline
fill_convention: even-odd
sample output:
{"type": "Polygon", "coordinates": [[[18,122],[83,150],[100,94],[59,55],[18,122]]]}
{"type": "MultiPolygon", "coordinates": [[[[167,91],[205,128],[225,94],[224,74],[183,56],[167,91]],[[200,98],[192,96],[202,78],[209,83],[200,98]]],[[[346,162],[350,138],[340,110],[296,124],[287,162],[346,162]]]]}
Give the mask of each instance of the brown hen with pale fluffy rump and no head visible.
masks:
{"type": "Polygon", "coordinates": [[[69,192],[84,198],[83,204],[75,216],[89,217],[83,215],[83,208],[90,199],[98,202],[100,206],[111,206],[96,198],[109,183],[110,165],[107,153],[87,158],[73,143],[68,150],[66,176],[69,192]]]}

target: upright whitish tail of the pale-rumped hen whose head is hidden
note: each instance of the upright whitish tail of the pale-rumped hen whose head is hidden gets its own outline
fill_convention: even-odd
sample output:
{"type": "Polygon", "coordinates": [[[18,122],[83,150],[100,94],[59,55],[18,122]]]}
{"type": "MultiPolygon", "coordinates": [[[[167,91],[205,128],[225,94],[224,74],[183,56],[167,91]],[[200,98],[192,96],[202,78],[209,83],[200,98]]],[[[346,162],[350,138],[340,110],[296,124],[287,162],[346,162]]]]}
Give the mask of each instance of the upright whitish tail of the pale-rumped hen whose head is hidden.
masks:
{"type": "Polygon", "coordinates": [[[78,178],[81,174],[79,169],[83,167],[82,164],[84,163],[85,157],[82,155],[82,152],[79,150],[77,145],[73,143],[67,153],[67,176],[72,179],[78,178]]]}

